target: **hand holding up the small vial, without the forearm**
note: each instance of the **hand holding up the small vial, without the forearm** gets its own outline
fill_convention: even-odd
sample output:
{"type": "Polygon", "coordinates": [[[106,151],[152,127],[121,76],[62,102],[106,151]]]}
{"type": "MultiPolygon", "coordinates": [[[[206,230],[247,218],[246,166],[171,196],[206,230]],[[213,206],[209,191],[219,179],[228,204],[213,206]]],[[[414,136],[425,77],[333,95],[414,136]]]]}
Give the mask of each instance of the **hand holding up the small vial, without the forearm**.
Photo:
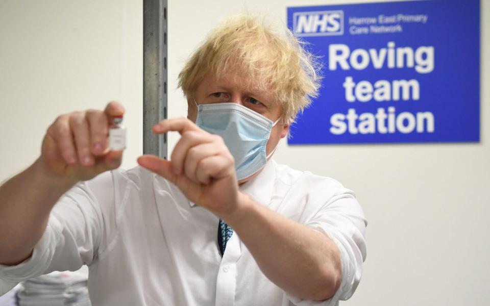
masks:
{"type": "Polygon", "coordinates": [[[112,117],[124,107],[110,102],[104,111],[87,110],[60,115],[48,127],[39,161],[45,171],[78,182],[112,170],[121,164],[122,151],[109,149],[112,117]]]}

